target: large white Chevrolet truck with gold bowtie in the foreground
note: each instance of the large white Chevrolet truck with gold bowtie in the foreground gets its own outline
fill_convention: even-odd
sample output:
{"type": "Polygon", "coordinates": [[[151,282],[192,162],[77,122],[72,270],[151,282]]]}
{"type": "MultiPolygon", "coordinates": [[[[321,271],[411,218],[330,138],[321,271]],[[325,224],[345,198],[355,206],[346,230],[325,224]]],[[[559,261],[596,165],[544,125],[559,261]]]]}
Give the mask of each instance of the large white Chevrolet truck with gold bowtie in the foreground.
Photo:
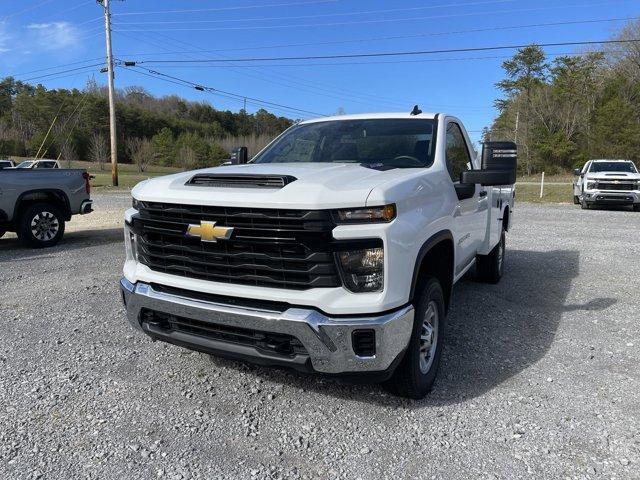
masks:
{"type": "Polygon", "coordinates": [[[122,298],[155,340],[265,365],[435,380],[453,285],[500,280],[516,147],[446,114],[305,121],[249,163],[144,181],[122,298]]]}

